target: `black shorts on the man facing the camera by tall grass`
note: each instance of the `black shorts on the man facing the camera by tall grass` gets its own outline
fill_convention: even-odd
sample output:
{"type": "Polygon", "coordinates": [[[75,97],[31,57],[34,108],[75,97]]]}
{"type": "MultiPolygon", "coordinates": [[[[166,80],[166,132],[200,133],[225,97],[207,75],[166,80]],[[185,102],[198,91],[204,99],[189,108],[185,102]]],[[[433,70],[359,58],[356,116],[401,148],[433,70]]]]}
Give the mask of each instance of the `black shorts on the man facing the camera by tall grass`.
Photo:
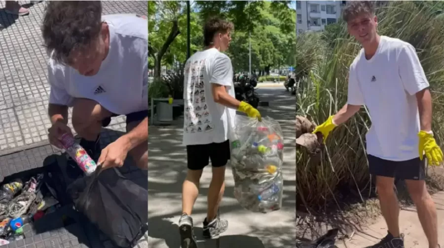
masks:
{"type": "Polygon", "coordinates": [[[425,158],[422,161],[419,157],[407,161],[389,161],[372,155],[367,155],[367,158],[370,174],[401,180],[425,179],[425,158]]]}

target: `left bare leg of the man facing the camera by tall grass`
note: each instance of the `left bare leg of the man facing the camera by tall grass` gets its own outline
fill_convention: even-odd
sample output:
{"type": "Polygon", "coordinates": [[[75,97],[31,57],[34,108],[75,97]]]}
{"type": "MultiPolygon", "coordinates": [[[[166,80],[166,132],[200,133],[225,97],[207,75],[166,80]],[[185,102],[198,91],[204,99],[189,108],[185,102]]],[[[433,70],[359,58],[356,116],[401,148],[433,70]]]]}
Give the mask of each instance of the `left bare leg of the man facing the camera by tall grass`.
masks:
{"type": "Polygon", "coordinates": [[[376,176],[376,190],[382,216],[387,223],[387,229],[393,237],[399,237],[399,204],[393,177],[376,176]]]}

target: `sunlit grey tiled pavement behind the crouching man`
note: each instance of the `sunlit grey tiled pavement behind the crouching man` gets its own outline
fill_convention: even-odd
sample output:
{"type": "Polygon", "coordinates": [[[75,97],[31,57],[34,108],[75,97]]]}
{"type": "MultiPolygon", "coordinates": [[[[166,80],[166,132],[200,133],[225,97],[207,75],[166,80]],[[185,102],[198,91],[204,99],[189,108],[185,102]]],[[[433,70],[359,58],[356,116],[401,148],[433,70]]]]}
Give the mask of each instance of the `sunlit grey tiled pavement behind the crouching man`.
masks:
{"type": "MultiPolygon", "coordinates": [[[[0,1],[0,8],[4,2],[0,1]]],[[[147,1],[103,1],[102,4],[103,14],[147,14],[147,1]]],[[[30,7],[30,15],[19,18],[0,9],[0,154],[44,144],[47,140],[48,56],[40,34],[45,5],[45,1],[36,3],[30,7]]],[[[125,117],[113,118],[108,127],[124,131],[125,117]]],[[[108,133],[104,135],[107,139],[108,133]]]]}

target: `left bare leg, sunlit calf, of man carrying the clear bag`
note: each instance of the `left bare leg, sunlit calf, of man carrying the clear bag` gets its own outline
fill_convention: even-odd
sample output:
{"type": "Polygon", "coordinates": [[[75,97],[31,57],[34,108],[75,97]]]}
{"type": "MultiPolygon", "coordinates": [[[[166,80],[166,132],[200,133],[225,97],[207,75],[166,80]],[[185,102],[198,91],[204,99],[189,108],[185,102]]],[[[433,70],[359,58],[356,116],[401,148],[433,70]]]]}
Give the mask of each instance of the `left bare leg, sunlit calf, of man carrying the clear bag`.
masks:
{"type": "Polygon", "coordinates": [[[194,203],[199,195],[199,181],[202,176],[201,169],[191,170],[188,169],[186,178],[182,184],[182,213],[191,215],[194,203]]]}

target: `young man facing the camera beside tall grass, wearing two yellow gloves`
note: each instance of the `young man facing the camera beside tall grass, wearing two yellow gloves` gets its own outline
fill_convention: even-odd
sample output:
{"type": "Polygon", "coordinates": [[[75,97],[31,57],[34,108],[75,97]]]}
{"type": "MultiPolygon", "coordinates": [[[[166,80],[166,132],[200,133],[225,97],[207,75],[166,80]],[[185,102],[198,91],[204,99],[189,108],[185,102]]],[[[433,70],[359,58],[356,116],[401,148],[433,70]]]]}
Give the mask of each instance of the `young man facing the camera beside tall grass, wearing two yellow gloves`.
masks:
{"type": "Polygon", "coordinates": [[[367,133],[370,173],[388,234],[373,248],[404,248],[399,228],[399,205],[394,177],[404,179],[416,205],[429,248],[439,248],[435,204],[425,185],[425,162],[439,165],[443,153],[432,132],[429,83],[415,48],[394,38],[379,36],[372,1],[350,1],[343,10],[348,32],[363,46],[350,66],[347,104],[314,131],[327,138],[362,105],[370,110],[367,133]],[[418,154],[419,150],[419,154],[418,154]]]}

